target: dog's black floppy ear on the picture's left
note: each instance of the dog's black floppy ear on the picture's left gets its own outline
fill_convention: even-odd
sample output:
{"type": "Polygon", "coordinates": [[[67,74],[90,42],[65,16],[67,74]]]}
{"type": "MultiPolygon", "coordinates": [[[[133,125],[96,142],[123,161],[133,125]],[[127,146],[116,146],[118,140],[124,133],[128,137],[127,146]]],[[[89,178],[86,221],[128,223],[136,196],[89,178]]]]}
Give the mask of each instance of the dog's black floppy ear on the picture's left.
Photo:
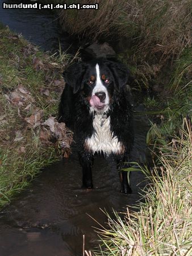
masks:
{"type": "Polygon", "coordinates": [[[63,73],[64,80],[72,86],[73,93],[77,93],[81,89],[82,79],[85,73],[84,63],[74,63],[70,65],[63,73]]]}

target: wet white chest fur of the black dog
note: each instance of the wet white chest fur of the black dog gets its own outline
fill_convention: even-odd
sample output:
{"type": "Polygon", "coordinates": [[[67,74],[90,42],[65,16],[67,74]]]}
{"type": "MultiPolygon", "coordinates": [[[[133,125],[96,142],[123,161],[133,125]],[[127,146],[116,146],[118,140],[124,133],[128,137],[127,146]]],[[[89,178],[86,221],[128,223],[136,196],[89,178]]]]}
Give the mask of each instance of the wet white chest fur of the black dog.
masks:
{"type": "Polygon", "coordinates": [[[86,147],[95,152],[103,152],[106,155],[111,153],[120,154],[123,151],[123,144],[118,141],[110,129],[110,117],[105,114],[95,114],[93,119],[94,133],[85,141],[86,147]]]}

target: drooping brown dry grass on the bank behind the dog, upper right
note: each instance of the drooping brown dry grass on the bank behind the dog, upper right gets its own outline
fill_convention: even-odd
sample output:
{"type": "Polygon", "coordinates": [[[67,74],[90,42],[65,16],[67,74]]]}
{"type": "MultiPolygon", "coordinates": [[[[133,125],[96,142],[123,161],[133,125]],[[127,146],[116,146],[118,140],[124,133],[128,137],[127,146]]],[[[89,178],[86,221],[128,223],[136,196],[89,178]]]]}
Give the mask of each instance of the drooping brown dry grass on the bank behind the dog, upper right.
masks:
{"type": "Polygon", "coordinates": [[[99,1],[98,10],[61,10],[60,20],[70,34],[89,42],[107,40],[117,51],[121,48],[118,57],[130,67],[139,89],[149,89],[157,81],[167,83],[170,89],[174,61],[180,59],[185,49],[190,51],[189,0],[103,0],[99,1]]]}

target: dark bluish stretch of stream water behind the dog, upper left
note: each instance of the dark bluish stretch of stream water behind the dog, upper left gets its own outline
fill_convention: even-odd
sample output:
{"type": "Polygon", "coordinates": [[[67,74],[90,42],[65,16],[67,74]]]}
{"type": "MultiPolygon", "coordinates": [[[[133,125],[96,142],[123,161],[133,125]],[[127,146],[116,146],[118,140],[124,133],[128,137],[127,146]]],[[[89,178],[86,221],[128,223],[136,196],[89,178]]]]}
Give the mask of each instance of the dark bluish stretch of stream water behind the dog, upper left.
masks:
{"type": "MultiPolygon", "coordinates": [[[[67,32],[61,31],[58,17],[51,10],[37,9],[2,9],[2,3],[16,3],[16,1],[0,0],[0,22],[31,43],[40,46],[44,51],[52,51],[59,48],[59,44],[68,52],[74,54],[77,51],[76,43],[67,32]]],[[[25,2],[25,1],[18,1],[25,2]]],[[[28,1],[30,2],[30,1],[28,1]]],[[[33,3],[33,2],[31,2],[33,3]]]]}

